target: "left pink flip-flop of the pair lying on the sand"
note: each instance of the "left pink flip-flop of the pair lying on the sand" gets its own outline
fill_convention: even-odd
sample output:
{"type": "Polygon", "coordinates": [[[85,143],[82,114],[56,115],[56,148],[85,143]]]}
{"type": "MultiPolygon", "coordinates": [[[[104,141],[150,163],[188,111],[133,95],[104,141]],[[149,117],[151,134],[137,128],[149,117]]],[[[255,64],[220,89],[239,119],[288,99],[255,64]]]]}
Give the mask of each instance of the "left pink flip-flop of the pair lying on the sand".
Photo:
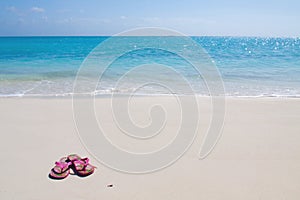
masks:
{"type": "Polygon", "coordinates": [[[49,177],[52,179],[64,179],[70,174],[71,162],[67,162],[67,158],[61,158],[55,162],[55,166],[51,169],[49,177]]]}

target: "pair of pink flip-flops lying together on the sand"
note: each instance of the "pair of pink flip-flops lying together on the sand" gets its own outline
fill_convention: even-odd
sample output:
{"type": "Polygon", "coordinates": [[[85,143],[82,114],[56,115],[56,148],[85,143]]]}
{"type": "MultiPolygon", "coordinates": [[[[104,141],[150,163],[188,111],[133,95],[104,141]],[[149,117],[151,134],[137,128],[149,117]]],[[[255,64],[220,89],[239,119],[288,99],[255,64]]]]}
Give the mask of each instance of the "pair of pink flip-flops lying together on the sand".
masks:
{"type": "Polygon", "coordinates": [[[52,179],[64,179],[69,176],[70,170],[80,177],[85,177],[94,173],[95,168],[89,163],[88,158],[81,158],[77,154],[71,154],[55,162],[49,177],[52,179]]]}

